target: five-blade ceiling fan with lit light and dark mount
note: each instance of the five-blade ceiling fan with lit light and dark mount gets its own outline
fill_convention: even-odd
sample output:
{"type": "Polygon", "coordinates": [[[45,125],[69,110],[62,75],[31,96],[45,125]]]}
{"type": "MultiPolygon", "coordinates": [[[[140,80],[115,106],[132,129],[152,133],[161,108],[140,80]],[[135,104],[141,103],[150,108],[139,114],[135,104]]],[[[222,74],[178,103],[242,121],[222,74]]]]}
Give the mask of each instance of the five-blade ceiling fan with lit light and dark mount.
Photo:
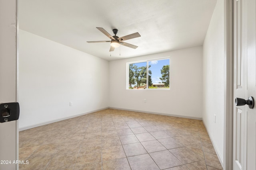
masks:
{"type": "Polygon", "coordinates": [[[102,33],[104,33],[108,38],[110,38],[111,40],[110,41],[87,41],[87,43],[105,43],[105,42],[110,42],[110,50],[109,51],[114,51],[114,49],[116,47],[119,47],[120,44],[121,45],[124,45],[126,47],[130,47],[130,48],[133,48],[133,49],[136,49],[138,46],[136,45],[132,45],[132,44],[129,44],[129,43],[125,43],[123,42],[124,40],[128,40],[128,39],[132,39],[132,38],[137,38],[137,37],[140,37],[140,34],[137,32],[137,33],[133,33],[133,34],[130,34],[130,35],[126,35],[124,37],[118,37],[116,36],[118,30],[117,29],[113,29],[113,33],[115,34],[114,36],[110,35],[105,29],[103,28],[100,28],[100,27],[96,27],[98,30],[100,30],[102,33]]]}

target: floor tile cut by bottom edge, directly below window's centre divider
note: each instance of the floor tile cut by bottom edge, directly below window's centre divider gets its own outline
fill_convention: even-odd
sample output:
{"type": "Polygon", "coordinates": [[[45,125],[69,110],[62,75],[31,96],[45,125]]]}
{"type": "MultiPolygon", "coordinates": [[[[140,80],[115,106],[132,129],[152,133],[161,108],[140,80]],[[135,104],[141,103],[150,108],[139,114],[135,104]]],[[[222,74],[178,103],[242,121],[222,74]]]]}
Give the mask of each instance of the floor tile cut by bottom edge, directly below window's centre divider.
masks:
{"type": "Polygon", "coordinates": [[[158,166],[149,156],[149,154],[142,154],[138,156],[131,156],[127,158],[132,170],[159,170],[158,166]]]}

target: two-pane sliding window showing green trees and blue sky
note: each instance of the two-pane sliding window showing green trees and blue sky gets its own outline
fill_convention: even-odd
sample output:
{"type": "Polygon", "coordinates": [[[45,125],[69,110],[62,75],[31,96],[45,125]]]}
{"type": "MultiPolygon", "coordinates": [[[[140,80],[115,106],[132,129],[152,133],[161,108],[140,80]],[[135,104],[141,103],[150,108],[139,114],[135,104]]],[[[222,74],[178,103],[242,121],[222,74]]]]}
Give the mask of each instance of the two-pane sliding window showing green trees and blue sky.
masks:
{"type": "Polygon", "coordinates": [[[128,89],[170,89],[170,59],[128,63],[128,89]]]}

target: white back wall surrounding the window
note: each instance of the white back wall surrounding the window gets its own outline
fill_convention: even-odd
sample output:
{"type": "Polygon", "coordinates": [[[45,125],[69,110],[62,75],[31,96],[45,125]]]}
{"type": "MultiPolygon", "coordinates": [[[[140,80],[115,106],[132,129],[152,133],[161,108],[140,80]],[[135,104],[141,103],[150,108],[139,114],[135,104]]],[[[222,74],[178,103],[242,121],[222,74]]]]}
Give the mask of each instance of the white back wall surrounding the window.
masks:
{"type": "Polygon", "coordinates": [[[109,76],[110,107],[202,118],[201,46],[110,61],[109,76]],[[126,90],[127,62],[160,57],[170,57],[170,90],[126,90]]]}

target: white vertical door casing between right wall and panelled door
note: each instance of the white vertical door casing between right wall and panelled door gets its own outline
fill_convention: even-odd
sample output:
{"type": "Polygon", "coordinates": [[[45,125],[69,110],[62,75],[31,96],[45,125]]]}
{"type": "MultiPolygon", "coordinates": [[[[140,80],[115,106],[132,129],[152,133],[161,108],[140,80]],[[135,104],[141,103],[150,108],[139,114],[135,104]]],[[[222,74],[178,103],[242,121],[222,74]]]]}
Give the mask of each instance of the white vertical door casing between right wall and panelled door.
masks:
{"type": "MultiPolygon", "coordinates": [[[[232,169],[233,144],[233,1],[224,1],[224,153],[222,167],[232,169]]],[[[219,157],[219,156],[218,156],[219,157]]]]}

